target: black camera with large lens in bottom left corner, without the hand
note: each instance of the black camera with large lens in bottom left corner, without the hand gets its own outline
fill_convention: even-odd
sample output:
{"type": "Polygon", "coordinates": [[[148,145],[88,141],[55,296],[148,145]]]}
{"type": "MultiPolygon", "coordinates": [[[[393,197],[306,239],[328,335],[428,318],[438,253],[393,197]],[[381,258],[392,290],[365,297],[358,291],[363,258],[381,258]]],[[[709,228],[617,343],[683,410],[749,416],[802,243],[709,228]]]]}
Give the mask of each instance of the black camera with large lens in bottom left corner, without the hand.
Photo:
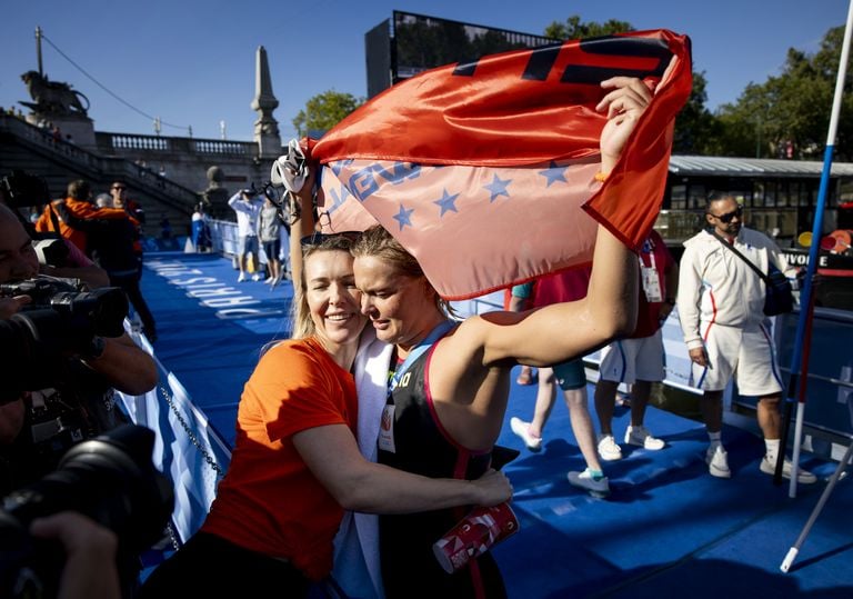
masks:
{"type": "MultiPolygon", "coordinates": [[[[0,597],[56,597],[64,551],[29,535],[36,518],[77,511],[119,539],[117,567],[127,583],[139,553],[163,537],[174,507],[169,479],[151,461],[154,432],[124,425],[72,447],[59,467],[18,489],[0,508],[0,597]]],[[[107,565],[104,565],[107,566],[107,565]]]]}

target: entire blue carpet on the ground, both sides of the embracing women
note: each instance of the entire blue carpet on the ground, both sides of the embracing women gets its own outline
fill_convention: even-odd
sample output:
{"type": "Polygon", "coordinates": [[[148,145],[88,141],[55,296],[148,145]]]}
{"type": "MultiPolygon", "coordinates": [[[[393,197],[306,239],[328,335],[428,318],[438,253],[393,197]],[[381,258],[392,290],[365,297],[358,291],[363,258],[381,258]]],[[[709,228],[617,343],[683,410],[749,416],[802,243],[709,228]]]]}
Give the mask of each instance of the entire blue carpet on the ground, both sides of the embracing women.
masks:
{"type": "MultiPolygon", "coordinates": [[[[285,338],[289,283],[270,290],[237,283],[231,261],[214,254],[147,254],[142,289],[158,319],[159,360],[181,380],[213,428],[233,442],[237,402],[259,349],[285,338]]],[[[589,388],[592,396],[592,386],[589,388]]],[[[759,471],[763,442],[726,427],[732,479],[708,475],[708,437],[695,421],[650,408],[646,426],[661,451],[623,446],[605,462],[612,495],[571,487],[582,470],[562,400],[540,453],[529,452],[509,418],[532,416],[535,387],[513,385],[500,445],[520,449],[512,479],[521,531],[494,548],[511,598],[853,597],[853,488],[842,480],[801,548],[792,571],[779,567],[817,502],[834,462],[804,455],[820,481],[787,497],[759,471]]],[[[618,408],[622,433],[629,412],[618,408]]]]}

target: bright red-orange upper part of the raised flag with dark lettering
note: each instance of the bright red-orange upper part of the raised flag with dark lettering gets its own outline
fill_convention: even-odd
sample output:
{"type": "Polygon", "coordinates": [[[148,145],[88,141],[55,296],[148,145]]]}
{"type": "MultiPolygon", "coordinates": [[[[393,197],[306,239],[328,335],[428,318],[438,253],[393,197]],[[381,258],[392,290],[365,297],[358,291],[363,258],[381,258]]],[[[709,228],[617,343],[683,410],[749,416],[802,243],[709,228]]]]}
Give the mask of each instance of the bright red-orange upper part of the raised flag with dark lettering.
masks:
{"type": "MultiPolygon", "coordinates": [[[[688,38],[642,31],[566,41],[424,71],[377,96],[313,149],[349,158],[424,164],[522,166],[598,153],[605,114],[600,82],[618,74],[660,80],[679,59],[666,96],[678,111],[690,88],[688,38]]],[[[670,117],[672,117],[670,114],[670,117]]]]}

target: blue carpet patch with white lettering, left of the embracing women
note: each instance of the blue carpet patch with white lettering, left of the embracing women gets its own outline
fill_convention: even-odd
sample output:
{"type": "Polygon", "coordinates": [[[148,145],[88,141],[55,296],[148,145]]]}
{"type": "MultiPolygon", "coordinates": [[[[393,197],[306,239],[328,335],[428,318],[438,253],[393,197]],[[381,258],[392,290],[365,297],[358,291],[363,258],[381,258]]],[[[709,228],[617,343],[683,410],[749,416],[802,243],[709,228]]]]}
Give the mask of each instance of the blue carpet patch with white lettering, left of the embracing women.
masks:
{"type": "Polygon", "coordinates": [[[142,291],[157,318],[158,359],[233,446],[237,403],[261,348],[290,337],[292,287],[237,282],[212,253],[147,254],[142,291]]]}

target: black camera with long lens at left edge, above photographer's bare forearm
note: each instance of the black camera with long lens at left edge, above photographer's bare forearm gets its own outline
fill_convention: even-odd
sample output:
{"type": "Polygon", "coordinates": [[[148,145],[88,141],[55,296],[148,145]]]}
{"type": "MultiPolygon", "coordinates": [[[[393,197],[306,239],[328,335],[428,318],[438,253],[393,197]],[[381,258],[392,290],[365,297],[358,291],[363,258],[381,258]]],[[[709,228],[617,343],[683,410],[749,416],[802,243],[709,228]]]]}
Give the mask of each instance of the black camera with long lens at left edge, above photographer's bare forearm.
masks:
{"type": "Polygon", "coordinates": [[[96,336],[124,332],[128,299],[120,288],[80,291],[72,281],[41,276],[0,284],[0,297],[33,300],[0,320],[0,403],[54,386],[63,376],[66,352],[84,352],[96,336]]]}

